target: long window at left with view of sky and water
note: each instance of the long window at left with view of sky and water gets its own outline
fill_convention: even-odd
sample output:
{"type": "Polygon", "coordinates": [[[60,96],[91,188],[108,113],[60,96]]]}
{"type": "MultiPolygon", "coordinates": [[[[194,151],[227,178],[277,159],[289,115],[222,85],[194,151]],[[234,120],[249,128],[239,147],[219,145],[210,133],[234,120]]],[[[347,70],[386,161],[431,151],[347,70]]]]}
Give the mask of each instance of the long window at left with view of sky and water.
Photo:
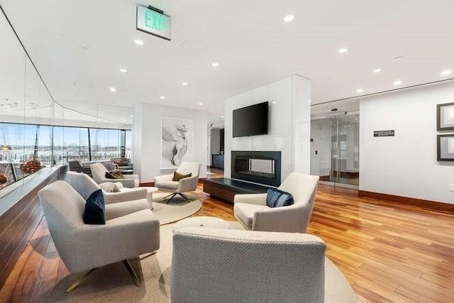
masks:
{"type": "Polygon", "coordinates": [[[0,123],[0,172],[6,177],[0,189],[70,160],[131,158],[131,138],[131,131],[119,129],[0,123]]]}

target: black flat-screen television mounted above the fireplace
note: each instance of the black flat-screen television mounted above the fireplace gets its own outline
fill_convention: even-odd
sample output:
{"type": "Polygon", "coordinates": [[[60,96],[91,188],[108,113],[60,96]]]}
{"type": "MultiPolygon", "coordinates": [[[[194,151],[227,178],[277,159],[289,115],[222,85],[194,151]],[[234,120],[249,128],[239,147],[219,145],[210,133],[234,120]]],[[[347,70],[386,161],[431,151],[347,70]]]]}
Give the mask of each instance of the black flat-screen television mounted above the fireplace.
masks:
{"type": "Polygon", "coordinates": [[[233,110],[233,138],[268,133],[268,101],[233,110]]]}

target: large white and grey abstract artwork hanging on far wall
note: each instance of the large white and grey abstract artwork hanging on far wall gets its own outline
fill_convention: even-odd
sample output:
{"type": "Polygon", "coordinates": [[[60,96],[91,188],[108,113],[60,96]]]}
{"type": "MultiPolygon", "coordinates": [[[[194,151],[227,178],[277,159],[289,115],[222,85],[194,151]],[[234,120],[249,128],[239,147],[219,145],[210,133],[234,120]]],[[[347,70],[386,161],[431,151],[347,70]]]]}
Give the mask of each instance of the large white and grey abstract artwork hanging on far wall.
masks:
{"type": "Polygon", "coordinates": [[[161,117],[161,169],[194,160],[194,120],[161,117]]]}

